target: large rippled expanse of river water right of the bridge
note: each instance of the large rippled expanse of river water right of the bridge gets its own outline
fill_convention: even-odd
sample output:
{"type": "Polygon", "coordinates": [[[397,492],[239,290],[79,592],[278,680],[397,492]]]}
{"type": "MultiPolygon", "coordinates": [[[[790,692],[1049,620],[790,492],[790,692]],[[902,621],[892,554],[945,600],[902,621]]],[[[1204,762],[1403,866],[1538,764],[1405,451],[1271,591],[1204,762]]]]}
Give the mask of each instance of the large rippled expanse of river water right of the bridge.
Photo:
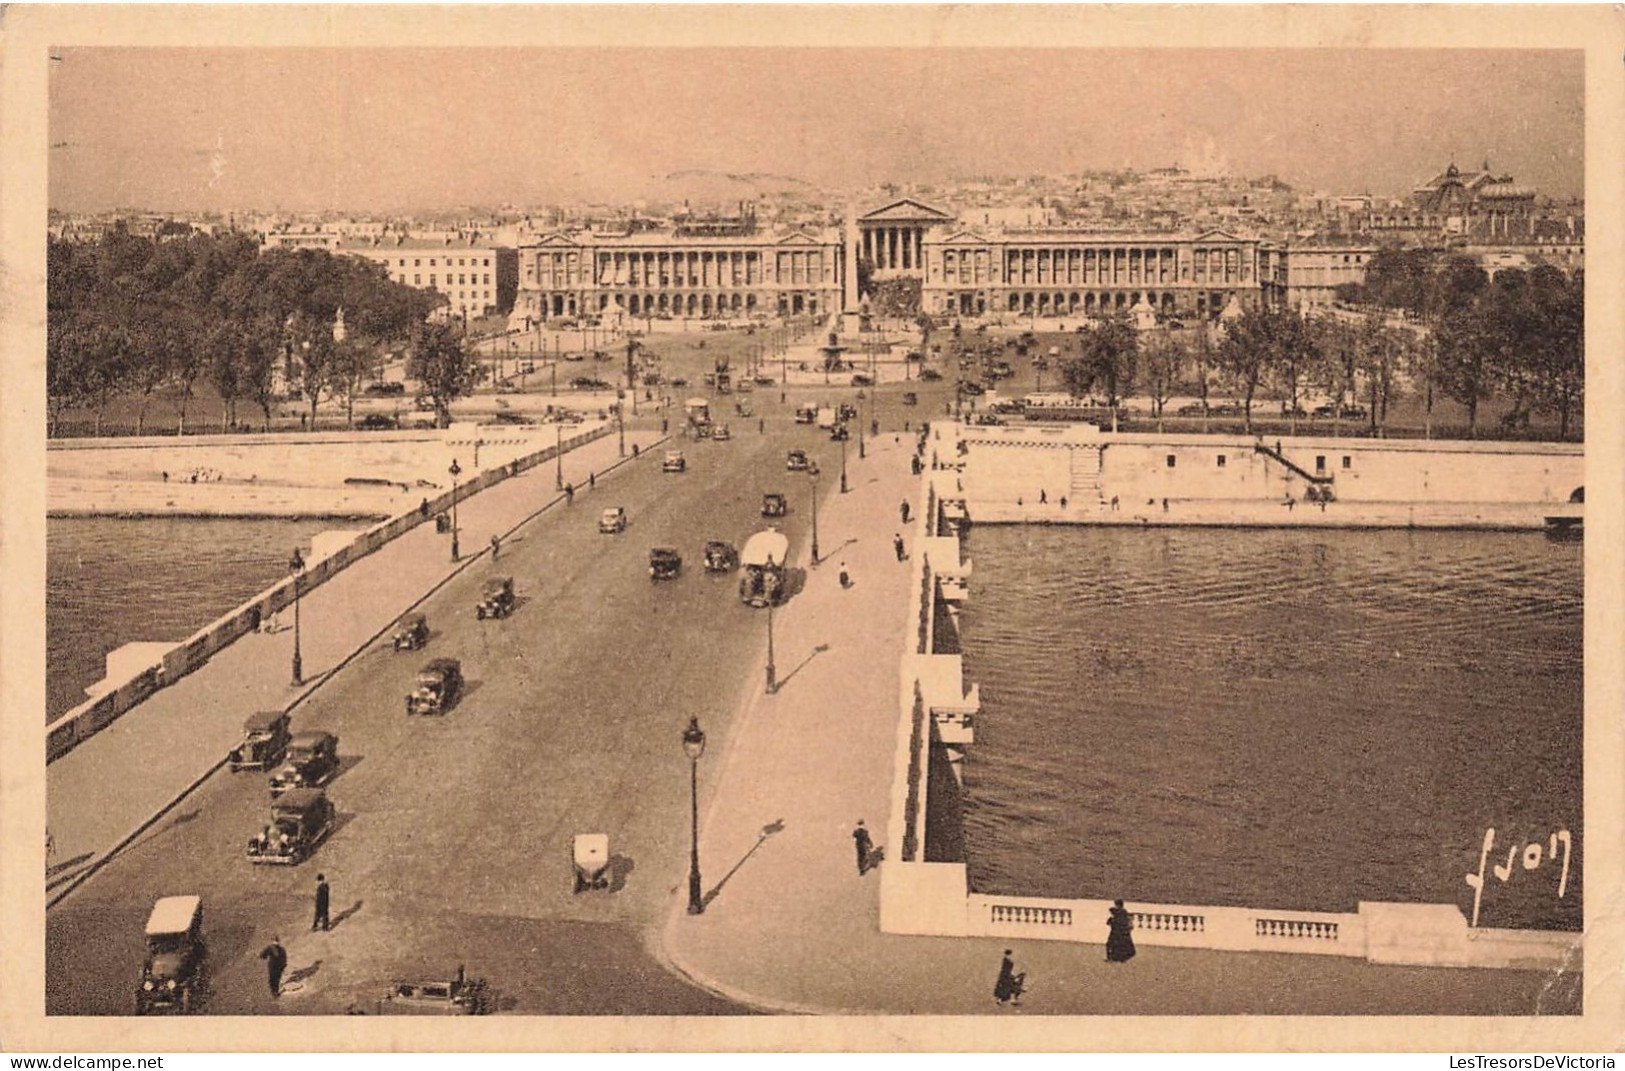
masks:
{"type": "Polygon", "coordinates": [[[975,891],[1471,915],[1493,827],[1480,925],[1581,926],[1578,543],[1017,525],[967,553],[975,891]]]}

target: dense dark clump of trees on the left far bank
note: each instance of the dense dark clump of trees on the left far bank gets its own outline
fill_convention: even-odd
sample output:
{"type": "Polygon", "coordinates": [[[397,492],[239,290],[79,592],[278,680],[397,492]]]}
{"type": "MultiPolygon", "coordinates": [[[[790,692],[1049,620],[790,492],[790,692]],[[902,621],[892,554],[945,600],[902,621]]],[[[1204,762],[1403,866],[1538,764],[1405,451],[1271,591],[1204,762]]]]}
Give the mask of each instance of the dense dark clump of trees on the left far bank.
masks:
{"type": "Polygon", "coordinates": [[[166,393],[185,434],[200,384],[219,395],[228,424],[239,405],[252,405],[268,427],[280,380],[310,406],[312,426],[323,395],[343,400],[353,421],[362,380],[400,343],[411,345],[408,375],[424,384],[442,421],[474,375],[460,328],[426,323],[444,297],[392,283],[356,257],[262,252],[242,234],[158,242],[119,226],[96,244],[52,241],[46,296],[52,432],[65,410],[86,408],[101,434],[110,400],[133,397],[141,434],[148,405],[166,393]]]}

